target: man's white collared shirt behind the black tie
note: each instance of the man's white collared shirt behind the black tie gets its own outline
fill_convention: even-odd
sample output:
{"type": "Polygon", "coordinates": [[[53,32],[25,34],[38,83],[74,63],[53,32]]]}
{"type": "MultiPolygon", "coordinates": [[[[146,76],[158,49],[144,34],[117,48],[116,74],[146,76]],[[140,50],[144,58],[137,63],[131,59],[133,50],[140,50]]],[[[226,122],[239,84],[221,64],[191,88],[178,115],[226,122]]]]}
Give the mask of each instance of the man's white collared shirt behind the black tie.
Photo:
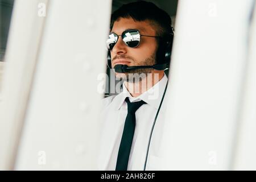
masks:
{"type": "MultiPolygon", "coordinates": [[[[130,102],[143,100],[143,104],[135,113],[136,126],[134,131],[133,143],[131,146],[129,163],[127,170],[143,170],[146,158],[148,140],[156,112],[162,100],[164,89],[167,84],[167,76],[157,82],[152,88],[142,93],[138,97],[132,97],[123,84],[123,90],[117,96],[104,98],[102,110],[102,131],[101,131],[101,148],[99,157],[99,169],[115,170],[119,145],[121,143],[123,127],[127,115],[127,104],[125,98],[129,97],[130,102]]],[[[166,110],[166,97],[156,119],[154,131],[148,153],[146,169],[157,168],[156,160],[160,150],[160,142],[163,131],[163,117],[166,110]]]]}

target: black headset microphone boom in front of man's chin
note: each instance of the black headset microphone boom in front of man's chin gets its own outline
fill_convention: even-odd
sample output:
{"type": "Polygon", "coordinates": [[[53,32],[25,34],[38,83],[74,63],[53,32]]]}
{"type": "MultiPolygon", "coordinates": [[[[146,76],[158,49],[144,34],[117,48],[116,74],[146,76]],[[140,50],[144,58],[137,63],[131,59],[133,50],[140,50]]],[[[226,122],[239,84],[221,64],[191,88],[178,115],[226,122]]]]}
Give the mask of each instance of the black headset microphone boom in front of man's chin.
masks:
{"type": "Polygon", "coordinates": [[[134,69],[141,69],[141,68],[153,68],[156,70],[164,70],[168,68],[168,64],[155,64],[155,65],[146,65],[146,66],[134,66],[134,67],[128,67],[126,64],[117,64],[114,66],[115,72],[117,73],[126,73],[134,69]]]}

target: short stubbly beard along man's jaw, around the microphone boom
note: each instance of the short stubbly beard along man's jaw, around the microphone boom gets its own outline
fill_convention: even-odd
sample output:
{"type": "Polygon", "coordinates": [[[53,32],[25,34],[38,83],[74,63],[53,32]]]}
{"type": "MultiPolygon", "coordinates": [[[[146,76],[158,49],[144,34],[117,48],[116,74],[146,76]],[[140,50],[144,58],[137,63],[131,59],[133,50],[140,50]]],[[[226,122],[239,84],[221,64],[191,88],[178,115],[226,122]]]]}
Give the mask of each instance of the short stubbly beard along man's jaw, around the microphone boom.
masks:
{"type": "MultiPolygon", "coordinates": [[[[144,66],[144,65],[154,65],[155,64],[155,53],[143,61],[136,61],[132,59],[135,65],[131,66],[144,66]]],[[[153,68],[139,68],[128,71],[126,73],[115,73],[115,76],[121,78],[123,81],[127,82],[139,82],[147,77],[148,73],[152,73],[153,68]]]]}

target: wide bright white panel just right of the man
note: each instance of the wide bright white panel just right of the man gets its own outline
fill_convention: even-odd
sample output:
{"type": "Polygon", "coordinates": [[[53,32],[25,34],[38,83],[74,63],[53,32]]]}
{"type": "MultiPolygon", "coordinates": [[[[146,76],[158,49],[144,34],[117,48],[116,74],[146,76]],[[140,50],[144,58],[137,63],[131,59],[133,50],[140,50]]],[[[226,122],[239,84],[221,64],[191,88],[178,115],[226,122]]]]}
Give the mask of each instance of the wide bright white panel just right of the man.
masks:
{"type": "Polygon", "coordinates": [[[179,1],[164,169],[230,169],[251,2],[179,1]]]}

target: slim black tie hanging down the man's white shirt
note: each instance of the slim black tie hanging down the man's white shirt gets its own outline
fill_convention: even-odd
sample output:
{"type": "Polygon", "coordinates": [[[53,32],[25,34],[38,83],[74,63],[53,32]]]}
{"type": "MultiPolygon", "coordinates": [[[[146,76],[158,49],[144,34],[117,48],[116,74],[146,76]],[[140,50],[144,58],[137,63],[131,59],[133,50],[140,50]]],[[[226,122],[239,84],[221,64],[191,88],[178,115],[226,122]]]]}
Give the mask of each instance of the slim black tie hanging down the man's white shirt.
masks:
{"type": "Polygon", "coordinates": [[[115,171],[127,170],[131,144],[133,143],[133,135],[136,124],[135,112],[143,104],[146,104],[146,102],[144,101],[130,102],[128,97],[126,97],[125,101],[127,102],[128,113],[125,119],[125,127],[123,127],[123,135],[119,146],[117,166],[115,166],[115,171]]]}

